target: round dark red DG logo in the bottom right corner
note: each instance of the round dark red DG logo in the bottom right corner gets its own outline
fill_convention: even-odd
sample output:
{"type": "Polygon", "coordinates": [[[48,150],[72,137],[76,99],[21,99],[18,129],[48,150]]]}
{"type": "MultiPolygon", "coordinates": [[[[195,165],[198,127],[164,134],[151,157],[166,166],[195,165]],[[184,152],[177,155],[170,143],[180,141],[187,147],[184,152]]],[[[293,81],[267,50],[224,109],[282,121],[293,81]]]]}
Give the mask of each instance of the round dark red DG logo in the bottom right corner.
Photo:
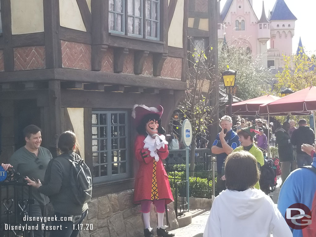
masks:
{"type": "Polygon", "coordinates": [[[295,203],[286,209],[285,220],[290,228],[301,230],[312,224],[312,213],[306,205],[295,203]]]}

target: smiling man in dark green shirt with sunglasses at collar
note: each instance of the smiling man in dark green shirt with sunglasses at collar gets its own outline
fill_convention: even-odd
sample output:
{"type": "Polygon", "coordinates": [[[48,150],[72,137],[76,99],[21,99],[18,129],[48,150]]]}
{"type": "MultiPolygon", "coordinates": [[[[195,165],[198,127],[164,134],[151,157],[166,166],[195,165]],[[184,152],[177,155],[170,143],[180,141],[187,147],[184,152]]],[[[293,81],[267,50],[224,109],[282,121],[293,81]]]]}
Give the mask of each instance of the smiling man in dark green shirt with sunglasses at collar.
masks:
{"type": "MultiPolygon", "coordinates": [[[[7,170],[13,167],[15,172],[20,173],[22,177],[29,177],[34,180],[44,180],[46,167],[52,159],[50,151],[41,147],[42,135],[41,129],[35,125],[28,125],[24,128],[23,134],[26,144],[21,147],[9,158],[8,164],[1,164],[7,170]]],[[[49,198],[32,187],[34,204],[32,205],[32,217],[41,217],[44,213],[44,206],[49,203],[49,198]]],[[[28,197],[28,187],[23,189],[24,198],[28,197]]],[[[34,237],[42,237],[43,230],[34,230],[34,237]]]]}

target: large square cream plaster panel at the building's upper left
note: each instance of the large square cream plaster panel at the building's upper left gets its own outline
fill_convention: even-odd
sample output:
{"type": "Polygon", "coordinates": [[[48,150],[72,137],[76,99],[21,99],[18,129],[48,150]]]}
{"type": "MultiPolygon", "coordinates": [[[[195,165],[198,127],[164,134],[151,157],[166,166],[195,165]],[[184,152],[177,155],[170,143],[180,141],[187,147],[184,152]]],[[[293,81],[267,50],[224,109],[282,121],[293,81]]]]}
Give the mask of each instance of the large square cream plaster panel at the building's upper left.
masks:
{"type": "Polygon", "coordinates": [[[12,34],[43,32],[43,0],[12,0],[11,20],[12,34]]]}

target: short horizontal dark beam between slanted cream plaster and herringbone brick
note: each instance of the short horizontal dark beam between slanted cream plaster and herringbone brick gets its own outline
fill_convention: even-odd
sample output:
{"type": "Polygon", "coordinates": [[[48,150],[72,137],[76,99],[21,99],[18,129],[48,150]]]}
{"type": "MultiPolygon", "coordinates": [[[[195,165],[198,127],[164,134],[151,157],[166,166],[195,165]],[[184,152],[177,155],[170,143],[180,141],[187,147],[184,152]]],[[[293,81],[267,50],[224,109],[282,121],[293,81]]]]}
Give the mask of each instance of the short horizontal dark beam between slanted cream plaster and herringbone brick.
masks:
{"type": "Polygon", "coordinates": [[[91,45],[91,33],[60,27],[60,39],[64,41],[77,42],[91,45]]]}

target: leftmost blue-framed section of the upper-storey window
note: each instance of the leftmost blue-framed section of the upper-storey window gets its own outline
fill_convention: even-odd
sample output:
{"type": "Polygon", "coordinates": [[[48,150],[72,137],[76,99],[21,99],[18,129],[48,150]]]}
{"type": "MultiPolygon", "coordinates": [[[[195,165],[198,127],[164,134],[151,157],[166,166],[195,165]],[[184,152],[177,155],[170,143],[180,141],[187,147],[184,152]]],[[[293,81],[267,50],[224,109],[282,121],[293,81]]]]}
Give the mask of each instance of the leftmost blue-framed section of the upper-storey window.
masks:
{"type": "Polygon", "coordinates": [[[125,32],[125,0],[109,0],[109,30],[125,32]]]}

